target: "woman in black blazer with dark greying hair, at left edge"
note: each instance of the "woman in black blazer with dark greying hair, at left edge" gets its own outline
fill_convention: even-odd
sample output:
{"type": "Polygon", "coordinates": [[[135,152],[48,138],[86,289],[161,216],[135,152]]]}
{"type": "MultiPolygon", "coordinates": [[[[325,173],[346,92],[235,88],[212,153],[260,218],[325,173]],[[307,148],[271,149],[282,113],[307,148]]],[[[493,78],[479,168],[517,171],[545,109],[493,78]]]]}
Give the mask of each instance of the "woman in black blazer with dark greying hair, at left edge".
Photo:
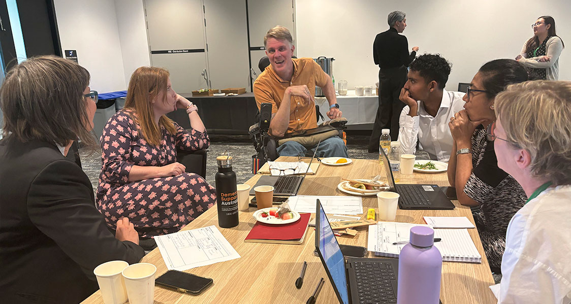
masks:
{"type": "Polygon", "coordinates": [[[40,56],[18,64],[0,88],[0,299],[78,303],[98,289],[93,270],[144,256],[127,218],[115,236],[95,209],[82,169],[66,159],[78,137],[94,147],[97,93],[71,60],[40,56]]]}

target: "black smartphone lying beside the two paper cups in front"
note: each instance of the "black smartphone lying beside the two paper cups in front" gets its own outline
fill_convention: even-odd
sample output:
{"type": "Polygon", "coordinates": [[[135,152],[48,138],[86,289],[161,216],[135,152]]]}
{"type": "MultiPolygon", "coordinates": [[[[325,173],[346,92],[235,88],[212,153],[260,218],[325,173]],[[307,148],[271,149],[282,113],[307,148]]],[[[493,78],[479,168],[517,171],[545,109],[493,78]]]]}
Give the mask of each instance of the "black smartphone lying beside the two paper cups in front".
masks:
{"type": "Polygon", "coordinates": [[[155,279],[156,286],[192,295],[199,295],[210,287],[212,283],[214,281],[211,278],[203,278],[178,270],[168,270],[155,279]]]}

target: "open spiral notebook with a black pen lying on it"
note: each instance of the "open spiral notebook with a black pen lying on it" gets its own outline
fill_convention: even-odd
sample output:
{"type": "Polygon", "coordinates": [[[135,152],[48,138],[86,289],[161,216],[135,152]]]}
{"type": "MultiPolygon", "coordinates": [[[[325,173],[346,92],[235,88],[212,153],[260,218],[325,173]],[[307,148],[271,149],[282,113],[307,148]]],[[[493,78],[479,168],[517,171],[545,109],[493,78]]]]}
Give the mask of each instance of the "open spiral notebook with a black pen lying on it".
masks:
{"type": "MultiPolygon", "coordinates": [[[[408,241],[411,228],[414,226],[429,227],[429,225],[401,222],[379,222],[371,225],[367,249],[375,252],[375,256],[397,258],[406,244],[393,245],[393,242],[408,241]]],[[[478,253],[468,229],[434,229],[434,237],[442,239],[434,244],[440,250],[443,261],[482,262],[482,256],[478,253]]]]}

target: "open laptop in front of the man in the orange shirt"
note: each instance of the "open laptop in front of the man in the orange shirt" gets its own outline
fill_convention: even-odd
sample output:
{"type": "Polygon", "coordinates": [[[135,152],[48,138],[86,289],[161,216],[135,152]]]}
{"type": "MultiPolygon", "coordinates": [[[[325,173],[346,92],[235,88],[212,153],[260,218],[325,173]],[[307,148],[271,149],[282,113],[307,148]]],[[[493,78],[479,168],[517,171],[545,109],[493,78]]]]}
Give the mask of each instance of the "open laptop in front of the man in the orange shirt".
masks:
{"type": "Polygon", "coordinates": [[[250,189],[250,195],[256,195],[254,188],[258,186],[268,185],[274,186],[274,196],[294,196],[297,195],[297,191],[301,187],[301,183],[305,179],[305,175],[309,172],[309,168],[311,167],[311,163],[313,163],[313,159],[315,159],[315,153],[317,153],[317,148],[319,148],[319,144],[321,140],[317,142],[315,147],[315,152],[313,152],[313,157],[309,161],[307,165],[307,170],[305,170],[304,175],[280,175],[280,176],[268,176],[264,175],[260,177],[258,182],[250,189]]]}

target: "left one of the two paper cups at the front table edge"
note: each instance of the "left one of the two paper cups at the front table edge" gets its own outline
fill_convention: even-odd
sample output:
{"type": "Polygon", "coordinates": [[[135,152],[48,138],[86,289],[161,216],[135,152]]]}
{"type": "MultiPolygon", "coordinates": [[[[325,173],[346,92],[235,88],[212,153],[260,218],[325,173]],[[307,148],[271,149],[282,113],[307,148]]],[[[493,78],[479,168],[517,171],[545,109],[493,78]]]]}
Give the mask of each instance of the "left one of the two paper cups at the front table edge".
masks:
{"type": "Polygon", "coordinates": [[[93,270],[101,290],[105,304],[122,304],[127,302],[127,291],[121,272],[129,264],[125,261],[110,261],[103,263],[93,270]]]}

